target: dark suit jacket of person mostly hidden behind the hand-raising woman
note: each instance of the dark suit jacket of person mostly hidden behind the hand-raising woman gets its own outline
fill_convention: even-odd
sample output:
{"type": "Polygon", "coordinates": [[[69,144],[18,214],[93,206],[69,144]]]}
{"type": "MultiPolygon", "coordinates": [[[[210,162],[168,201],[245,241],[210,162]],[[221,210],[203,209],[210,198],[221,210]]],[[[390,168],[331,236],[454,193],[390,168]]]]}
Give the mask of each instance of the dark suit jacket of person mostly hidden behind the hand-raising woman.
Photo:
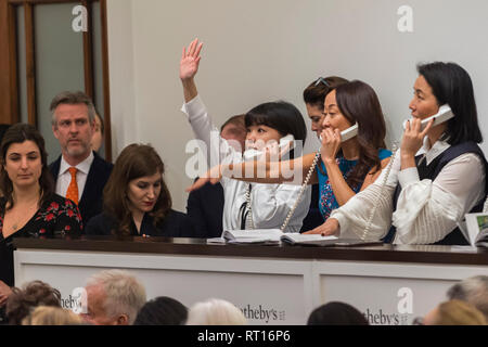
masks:
{"type": "Polygon", "coordinates": [[[222,234],[223,188],[206,183],[188,196],[187,215],[195,229],[195,237],[219,237],[222,234]]]}

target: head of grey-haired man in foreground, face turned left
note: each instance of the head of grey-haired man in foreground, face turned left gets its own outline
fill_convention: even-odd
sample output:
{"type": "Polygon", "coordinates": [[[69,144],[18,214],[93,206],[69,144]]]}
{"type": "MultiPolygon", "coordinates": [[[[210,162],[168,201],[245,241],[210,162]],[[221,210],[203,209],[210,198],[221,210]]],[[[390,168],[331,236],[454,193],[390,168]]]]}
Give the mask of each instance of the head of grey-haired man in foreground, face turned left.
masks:
{"type": "Polygon", "coordinates": [[[85,287],[84,319],[95,325],[131,325],[145,304],[144,286],[129,272],[105,270],[92,275],[85,287]]]}

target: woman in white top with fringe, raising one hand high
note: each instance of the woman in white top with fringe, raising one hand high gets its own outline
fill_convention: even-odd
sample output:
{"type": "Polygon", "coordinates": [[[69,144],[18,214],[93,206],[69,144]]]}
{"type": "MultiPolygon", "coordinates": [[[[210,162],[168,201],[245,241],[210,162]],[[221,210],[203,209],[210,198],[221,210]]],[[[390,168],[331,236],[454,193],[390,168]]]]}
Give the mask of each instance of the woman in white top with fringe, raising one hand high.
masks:
{"type": "MultiPolygon", "coordinates": [[[[218,163],[242,163],[242,151],[219,136],[203,104],[194,81],[197,73],[202,43],[193,40],[188,50],[183,48],[180,61],[180,79],[183,86],[184,104],[182,111],[188,115],[195,137],[206,144],[207,162],[210,166],[218,163]],[[215,136],[215,138],[213,138],[215,136]],[[211,162],[213,159],[217,159],[211,162]]],[[[262,151],[272,147],[278,155],[277,143],[292,134],[296,141],[305,142],[307,128],[300,112],[283,101],[268,102],[253,107],[245,114],[246,152],[262,151]]],[[[293,157],[298,149],[292,149],[293,157]]],[[[279,229],[287,213],[299,197],[300,187],[284,184],[248,184],[236,180],[221,181],[224,203],[222,227],[224,230],[237,229],[279,229]]],[[[310,189],[300,197],[303,204],[297,208],[284,232],[298,232],[301,221],[308,213],[310,189]]]]}

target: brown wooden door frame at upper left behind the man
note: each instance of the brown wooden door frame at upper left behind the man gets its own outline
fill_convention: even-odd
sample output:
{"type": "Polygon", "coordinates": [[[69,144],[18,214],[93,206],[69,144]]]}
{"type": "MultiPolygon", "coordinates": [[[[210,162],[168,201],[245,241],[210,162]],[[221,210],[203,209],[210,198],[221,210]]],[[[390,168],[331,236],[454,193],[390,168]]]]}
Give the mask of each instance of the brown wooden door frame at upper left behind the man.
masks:
{"type": "Polygon", "coordinates": [[[84,31],[84,76],[85,92],[92,100],[94,97],[93,78],[93,38],[91,21],[91,3],[100,2],[102,73],[103,73],[103,123],[105,139],[105,158],[112,162],[111,105],[110,105],[110,70],[108,70],[108,35],[106,0],[0,0],[0,123],[15,124],[21,120],[17,69],[17,33],[16,7],[24,5],[26,39],[26,78],[28,123],[37,125],[36,114],[36,70],[33,9],[36,4],[81,2],[88,10],[88,31],[84,31]]]}

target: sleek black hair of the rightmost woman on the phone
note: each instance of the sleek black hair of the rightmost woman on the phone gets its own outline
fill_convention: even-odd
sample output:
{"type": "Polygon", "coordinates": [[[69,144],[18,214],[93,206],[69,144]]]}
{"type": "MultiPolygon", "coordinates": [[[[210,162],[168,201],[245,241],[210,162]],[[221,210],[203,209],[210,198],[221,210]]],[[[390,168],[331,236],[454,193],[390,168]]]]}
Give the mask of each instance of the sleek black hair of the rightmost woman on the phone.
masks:
{"type": "Polygon", "coordinates": [[[483,142],[473,82],[467,72],[455,63],[442,62],[419,64],[416,70],[431,86],[437,104],[448,104],[454,113],[448,121],[447,142],[451,145],[483,142]]]}

